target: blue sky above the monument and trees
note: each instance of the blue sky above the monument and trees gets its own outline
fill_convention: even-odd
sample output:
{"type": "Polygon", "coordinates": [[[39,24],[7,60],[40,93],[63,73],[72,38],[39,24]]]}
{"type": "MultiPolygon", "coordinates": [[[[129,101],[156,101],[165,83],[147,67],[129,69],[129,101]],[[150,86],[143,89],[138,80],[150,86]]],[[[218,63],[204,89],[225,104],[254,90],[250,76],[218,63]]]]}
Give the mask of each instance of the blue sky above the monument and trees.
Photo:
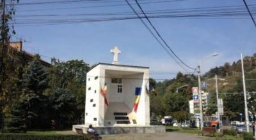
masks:
{"type": "MultiPolygon", "coordinates": [[[[125,0],[28,4],[36,2],[49,1],[20,0],[20,5],[15,6],[16,23],[13,25],[17,34],[13,35],[12,41],[22,39],[24,50],[39,53],[44,60],[49,61],[51,57],[63,61],[83,59],[90,66],[99,62],[111,63],[113,55],[110,50],[118,46],[122,52],[118,56],[120,64],[148,66],[152,78],[170,79],[179,71],[186,73],[161,48],[138,18],[53,25],[31,24],[31,19],[40,21],[59,18],[95,18],[95,15],[74,16],[81,13],[132,12],[125,0]],[[116,4],[122,5],[108,6],[116,4]],[[66,16],[52,18],[36,16],[54,14],[66,16]],[[21,22],[24,23],[20,24],[21,22]]],[[[133,0],[129,2],[134,3],[133,0]]],[[[255,7],[253,9],[256,1],[246,0],[246,2],[249,8],[252,8],[256,19],[255,7]]],[[[177,9],[244,6],[242,0],[139,0],[139,3],[145,13],[152,10],[179,11],[177,9]]],[[[132,7],[136,11],[140,10],[136,4],[132,4],[132,7]]],[[[244,10],[246,10],[245,6],[244,10]]],[[[147,20],[143,20],[147,23],[147,20]]],[[[234,18],[150,18],[150,20],[173,52],[188,66],[196,67],[202,60],[203,73],[212,67],[222,66],[225,62],[232,63],[239,60],[241,53],[253,55],[256,52],[256,27],[249,14],[244,15],[243,18],[235,16],[234,18]],[[207,57],[213,53],[219,55],[207,57]]],[[[189,70],[189,72],[193,71],[189,70]]]]}

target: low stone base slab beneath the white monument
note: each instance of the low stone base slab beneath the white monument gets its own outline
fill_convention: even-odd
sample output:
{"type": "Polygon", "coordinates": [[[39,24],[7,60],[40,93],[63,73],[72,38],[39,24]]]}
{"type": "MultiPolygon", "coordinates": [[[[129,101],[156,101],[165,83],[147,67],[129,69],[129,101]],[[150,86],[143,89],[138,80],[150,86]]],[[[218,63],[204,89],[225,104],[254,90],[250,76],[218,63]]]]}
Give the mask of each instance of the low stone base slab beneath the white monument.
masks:
{"type": "MultiPolygon", "coordinates": [[[[87,133],[88,126],[86,125],[73,125],[72,131],[82,129],[84,134],[87,133]]],[[[165,127],[163,125],[150,125],[150,126],[112,126],[112,127],[94,127],[99,134],[128,134],[128,133],[164,133],[165,127]]]]}

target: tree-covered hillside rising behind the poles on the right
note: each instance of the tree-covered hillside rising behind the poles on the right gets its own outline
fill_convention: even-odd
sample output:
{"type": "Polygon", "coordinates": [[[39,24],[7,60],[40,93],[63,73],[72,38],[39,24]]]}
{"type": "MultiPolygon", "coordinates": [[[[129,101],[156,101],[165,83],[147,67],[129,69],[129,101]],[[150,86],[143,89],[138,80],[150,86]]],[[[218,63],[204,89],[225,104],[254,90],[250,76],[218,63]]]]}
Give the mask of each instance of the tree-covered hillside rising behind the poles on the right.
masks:
{"type": "MultiPolygon", "coordinates": [[[[244,71],[246,78],[256,77],[256,53],[252,57],[244,57],[244,71]]],[[[241,85],[238,82],[242,79],[241,60],[229,64],[226,62],[224,66],[214,67],[205,73],[203,79],[207,81],[209,90],[215,90],[215,74],[218,75],[218,83],[220,92],[240,92],[241,85]]],[[[248,83],[248,82],[246,82],[248,83]]],[[[248,84],[248,86],[250,83],[248,84]]],[[[248,87],[246,86],[246,87],[248,87]]]]}

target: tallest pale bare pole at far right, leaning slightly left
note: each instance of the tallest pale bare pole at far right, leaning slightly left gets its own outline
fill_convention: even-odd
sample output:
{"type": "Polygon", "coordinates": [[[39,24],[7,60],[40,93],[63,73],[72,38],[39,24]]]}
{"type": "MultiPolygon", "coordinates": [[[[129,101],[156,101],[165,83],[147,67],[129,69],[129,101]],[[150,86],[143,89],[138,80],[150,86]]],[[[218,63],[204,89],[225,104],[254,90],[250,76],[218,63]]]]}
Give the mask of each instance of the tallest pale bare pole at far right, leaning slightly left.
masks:
{"type": "Polygon", "coordinates": [[[244,62],[243,62],[243,54],[242,53],[241,53],[241,64],[242,64],[243,87],[244,87],[245,123],[246,123],[246,131],[249,132],[249,118],[248,118],[247,97],[246,97],[246,87],[245,87],[245,78],[244,78],[244,62]]]}

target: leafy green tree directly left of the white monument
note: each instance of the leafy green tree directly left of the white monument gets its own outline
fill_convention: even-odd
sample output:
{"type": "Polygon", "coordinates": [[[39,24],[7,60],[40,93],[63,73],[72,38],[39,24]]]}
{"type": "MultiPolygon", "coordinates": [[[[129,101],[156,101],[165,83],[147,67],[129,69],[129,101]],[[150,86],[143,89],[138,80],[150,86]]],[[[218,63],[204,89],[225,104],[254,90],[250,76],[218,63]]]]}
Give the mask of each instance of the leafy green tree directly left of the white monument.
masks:
{"type": "Polygon", "coordinates": [[[85,92],[86,92],[86,73],[90,69],[83,60],[69,60],[67,62],[58,62],[52,59],[50,72],[50,92],[56,88],[67,88],[76,98],[74,104],[74,123],[82,123],[84,115],[85,92]]]}

